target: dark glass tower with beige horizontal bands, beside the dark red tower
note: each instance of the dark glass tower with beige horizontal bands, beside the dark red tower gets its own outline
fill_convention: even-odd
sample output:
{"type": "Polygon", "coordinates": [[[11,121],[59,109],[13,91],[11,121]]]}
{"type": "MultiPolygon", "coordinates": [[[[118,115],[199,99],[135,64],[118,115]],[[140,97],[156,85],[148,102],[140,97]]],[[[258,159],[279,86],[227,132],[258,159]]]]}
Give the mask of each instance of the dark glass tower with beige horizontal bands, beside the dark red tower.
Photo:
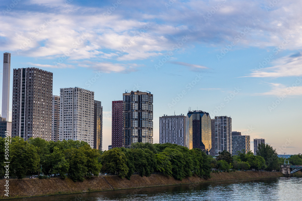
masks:
{"type": "Polygon", "coordinates": [[[123,146],[137,142],[153,144],[153,94],[123,93],[123,102],[123,146]]]}

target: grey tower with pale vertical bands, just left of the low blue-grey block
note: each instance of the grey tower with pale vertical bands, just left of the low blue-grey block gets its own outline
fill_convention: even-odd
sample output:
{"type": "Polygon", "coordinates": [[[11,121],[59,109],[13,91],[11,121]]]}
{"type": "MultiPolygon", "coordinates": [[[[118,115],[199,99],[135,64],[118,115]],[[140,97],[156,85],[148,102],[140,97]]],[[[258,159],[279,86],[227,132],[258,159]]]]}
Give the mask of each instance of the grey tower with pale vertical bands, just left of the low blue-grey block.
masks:
{"type": "Polygon", "coordinates": [[[227,116],[215,117],[214,124],[215,156],[223,150],[232,154],[232,118],[227,116]]]}

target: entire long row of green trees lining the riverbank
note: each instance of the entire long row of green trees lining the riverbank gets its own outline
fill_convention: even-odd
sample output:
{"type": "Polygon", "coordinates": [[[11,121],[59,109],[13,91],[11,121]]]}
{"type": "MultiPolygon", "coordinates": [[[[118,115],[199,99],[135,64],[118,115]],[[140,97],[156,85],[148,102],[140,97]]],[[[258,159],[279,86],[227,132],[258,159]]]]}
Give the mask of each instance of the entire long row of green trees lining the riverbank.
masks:
{"type": "MultiPolygon", "coordinates": [[[[4,176],[5,139],[0,138],[0,176],[4,176]]],[[[206,155],[201,149],[191,149],[175,144],[134,143],[130,149],[114,148],[109,151],[92,149],[88,143],[63,140],[45,141],[40,138],[11,138],[9,143],[10,176],[24,178],[43,172],[46,175],[59,174],[74,181],[83,181],[85,176],[98,176],[100,172],[117,174],[121,178],[136,172],[150,176],[153,172],[182,180],[197,174],[209,178],[213,169],[234,170],[278,170],[284,159],[268,144],[258,147],[257,155],[252,152],[219,153],[216,159],[206,155]]],[[[293,165],[302,165],[302,155],[292,155],[293,165]]]]}

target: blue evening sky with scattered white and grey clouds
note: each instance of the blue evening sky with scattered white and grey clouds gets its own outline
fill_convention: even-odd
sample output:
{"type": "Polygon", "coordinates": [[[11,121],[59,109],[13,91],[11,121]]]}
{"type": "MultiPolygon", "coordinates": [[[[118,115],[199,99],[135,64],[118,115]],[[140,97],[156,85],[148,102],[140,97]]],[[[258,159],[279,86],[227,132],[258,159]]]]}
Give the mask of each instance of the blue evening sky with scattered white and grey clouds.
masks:
{"type": "Polygon", "coordinates": [[[265,138],[279,154],[302,152],[300,0],[1,0],[0,6],[0,50],[11,53],[11,86],[14,68],[37,67],[53,73],[53,95],[76,86],[94,91],[104,111],[104,150],[111,145],[111,102],[140,90],[154,97],[154,143],[160,116],[191,108],[230,116],[233,131],[251,136],[252,150],[254,138],[265,138]]]}

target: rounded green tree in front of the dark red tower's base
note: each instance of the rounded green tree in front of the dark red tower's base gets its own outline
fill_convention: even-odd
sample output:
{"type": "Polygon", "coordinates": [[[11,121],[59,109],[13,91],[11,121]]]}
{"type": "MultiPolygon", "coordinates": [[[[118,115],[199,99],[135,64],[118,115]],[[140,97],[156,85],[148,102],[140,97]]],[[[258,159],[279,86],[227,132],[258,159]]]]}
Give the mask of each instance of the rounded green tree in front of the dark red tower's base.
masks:
{"type": "Polygon", "coordinates": [[[124,178],[129,171],[126,162],[127,157],[125,153],[117,148],[104,151],[101,156],[102,171],[117,174],[121,178],[124,178]]]}

